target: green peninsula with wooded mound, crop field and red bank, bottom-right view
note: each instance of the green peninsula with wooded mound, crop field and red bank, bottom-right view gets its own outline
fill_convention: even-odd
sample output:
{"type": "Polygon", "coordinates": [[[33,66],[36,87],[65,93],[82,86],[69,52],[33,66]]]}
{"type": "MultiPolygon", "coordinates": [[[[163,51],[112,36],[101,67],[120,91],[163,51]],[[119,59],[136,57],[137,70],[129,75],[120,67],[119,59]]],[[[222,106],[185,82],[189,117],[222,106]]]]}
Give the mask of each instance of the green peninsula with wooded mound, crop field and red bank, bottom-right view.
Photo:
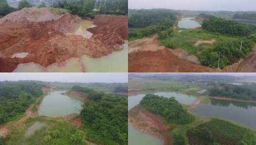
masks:
{"type": "Polygon", "coordinates": [[[161,138],[164,145],[256,144],[255,130],[218,118],[195,116],[190,114],[174,98],[168,99],[153,94],[147,94],[142,99],[139,106],[140,107],[134,107],[129,111],[130,123],[146,133],[161,138]],[[149,113],[146,113],[144,108],[148,110],[149,113]],[[147,124],[147,120],[152,120],[153,117],[157,117],[154,114],[160,115],[160,120],[154,122],[154,126],[148,126],[152,124],[147,124]],[[147,116],[148,118],[145,119],[145,117],[141,116],[147,116]],[[151,129],[145,129],[148,127],[151,127],[151,129]],[[167,128],[165,132],[163,132],[163,128],[167,128]]]}

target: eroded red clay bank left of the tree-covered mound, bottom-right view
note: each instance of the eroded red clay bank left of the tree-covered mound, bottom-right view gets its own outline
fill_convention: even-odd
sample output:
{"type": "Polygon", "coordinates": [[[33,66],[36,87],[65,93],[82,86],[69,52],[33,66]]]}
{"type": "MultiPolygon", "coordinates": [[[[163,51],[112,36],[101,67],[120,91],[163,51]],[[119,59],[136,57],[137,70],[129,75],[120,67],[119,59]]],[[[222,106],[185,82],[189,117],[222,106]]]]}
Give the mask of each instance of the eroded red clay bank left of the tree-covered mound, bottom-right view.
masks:
{"type": "Polygon", "coordinates": [[[170,128],[165,124],[164,119],[150,111],[147,111],[142,106],[137,105],[129,111],[128,121],[136,129],[143,133],[155,135],[160,138],[164,145],[173,145],[173,138],[170,128]]]}

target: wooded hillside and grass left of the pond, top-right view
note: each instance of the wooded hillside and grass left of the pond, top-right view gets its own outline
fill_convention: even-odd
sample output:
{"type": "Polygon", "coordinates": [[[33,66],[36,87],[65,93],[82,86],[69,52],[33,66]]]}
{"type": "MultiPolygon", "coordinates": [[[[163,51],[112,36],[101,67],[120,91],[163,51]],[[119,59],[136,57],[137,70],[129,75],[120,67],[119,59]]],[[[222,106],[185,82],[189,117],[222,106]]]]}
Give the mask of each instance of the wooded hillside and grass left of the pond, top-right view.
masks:
{"type": "Polygon", "coordinates": [[[176,13],[170,10],[132,10],[129,13],[129,41],[157,33],[166,38],[177,23],[176,13]]]}

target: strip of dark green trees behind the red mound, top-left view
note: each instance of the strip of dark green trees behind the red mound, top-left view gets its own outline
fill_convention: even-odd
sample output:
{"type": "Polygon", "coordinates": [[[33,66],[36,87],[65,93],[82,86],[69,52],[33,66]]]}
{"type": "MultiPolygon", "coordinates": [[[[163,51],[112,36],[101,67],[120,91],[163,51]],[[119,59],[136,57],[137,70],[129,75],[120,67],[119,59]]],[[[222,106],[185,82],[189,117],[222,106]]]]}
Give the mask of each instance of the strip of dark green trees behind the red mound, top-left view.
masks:
{"type": "MultiPolygon", "coordinates": [[[[12,8],[6,0],[0,0],[0,17],[3,17],[10,12],[21,10],[23,8],[31,8],[33,5],[27,0],[20,0],[18,8],[12,8]]],[[[41,2],[38,8],[47,7],[47,4],[41,2]]],[[[72,14],[81,17],[94,17],[95,13],[100,14],[128,14],[128,0],[78,0],[78,1],[57,1],[48,7],[62,8],[70,10],[72,14]]]]}

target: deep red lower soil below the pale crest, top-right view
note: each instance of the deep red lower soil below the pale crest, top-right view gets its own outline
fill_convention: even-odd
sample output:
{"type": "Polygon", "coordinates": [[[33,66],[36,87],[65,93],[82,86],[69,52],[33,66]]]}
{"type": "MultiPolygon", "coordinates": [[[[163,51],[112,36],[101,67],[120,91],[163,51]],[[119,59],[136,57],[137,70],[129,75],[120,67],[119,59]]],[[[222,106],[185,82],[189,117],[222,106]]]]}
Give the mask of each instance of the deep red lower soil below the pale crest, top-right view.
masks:
{"type": "Polygon", "coordinates": [[[129,72],[216,72],[210,67],[178,58],[167,48],[156,52],[132,52],[128,58],[129,72]]]}

